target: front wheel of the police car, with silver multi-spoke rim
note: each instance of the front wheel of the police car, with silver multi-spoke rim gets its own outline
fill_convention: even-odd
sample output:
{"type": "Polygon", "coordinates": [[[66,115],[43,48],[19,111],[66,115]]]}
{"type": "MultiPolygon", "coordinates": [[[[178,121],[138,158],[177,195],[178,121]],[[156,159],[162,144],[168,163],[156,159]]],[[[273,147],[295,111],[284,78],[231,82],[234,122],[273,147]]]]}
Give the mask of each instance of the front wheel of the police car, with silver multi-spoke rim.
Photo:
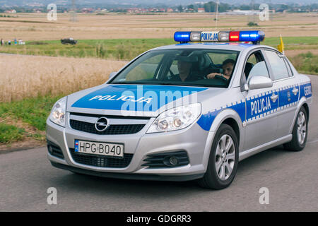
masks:
{"type": "Polygon", "coordinates": [[[231,126],[221,124],[213,139],[208,168],[204,177],[198,180],[199,185],[206,189],[216,190],[228,187],[237,172],[238,157],[239,148],[235,131],[231,126]],[[230,141],[232,141],[232,145],[226,148],[230,141]],[[229,167],[232,168],[232,172],[229,167]]]}

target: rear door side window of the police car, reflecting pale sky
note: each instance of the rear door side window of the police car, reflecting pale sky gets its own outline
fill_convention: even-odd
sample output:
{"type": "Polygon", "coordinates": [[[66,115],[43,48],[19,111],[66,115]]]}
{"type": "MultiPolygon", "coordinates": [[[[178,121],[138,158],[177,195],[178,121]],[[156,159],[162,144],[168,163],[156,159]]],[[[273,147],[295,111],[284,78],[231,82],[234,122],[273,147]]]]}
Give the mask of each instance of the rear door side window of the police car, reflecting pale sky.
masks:
{"type": "Polygon", "coordinates": [[[288,78],[289,74],[283,57],[278,56],[278,54],[273,51],[265,50],[264,52],[269,60],[271,71],[273,71],[274,80],[288,78]]]}

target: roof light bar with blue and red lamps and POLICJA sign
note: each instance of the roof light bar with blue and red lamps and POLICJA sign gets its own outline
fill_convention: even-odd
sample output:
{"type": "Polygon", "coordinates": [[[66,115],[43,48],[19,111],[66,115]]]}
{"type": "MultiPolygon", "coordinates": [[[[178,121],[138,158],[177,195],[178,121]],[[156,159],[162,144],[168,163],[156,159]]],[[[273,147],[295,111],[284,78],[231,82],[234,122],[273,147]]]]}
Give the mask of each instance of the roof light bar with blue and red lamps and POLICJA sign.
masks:
{"type": "Polygon", "coordinates": [[[177,31],[175,41],[187,42],[253,42],[257,44],[264,40],[265,33],[261,30],[241,31],[177,31]]]}

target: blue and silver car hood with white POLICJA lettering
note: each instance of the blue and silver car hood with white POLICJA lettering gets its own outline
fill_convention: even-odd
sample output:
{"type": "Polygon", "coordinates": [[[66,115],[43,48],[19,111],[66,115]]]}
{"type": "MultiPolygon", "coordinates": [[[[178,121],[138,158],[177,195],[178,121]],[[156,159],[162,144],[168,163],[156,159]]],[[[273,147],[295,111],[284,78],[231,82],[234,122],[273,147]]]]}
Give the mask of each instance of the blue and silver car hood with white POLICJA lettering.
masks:
{"type": "Polygon", "coordinates": [[[224,88],[104,84],[69,95],[67,112],[156,117],[179,105],[203,102],[224,88]]]}

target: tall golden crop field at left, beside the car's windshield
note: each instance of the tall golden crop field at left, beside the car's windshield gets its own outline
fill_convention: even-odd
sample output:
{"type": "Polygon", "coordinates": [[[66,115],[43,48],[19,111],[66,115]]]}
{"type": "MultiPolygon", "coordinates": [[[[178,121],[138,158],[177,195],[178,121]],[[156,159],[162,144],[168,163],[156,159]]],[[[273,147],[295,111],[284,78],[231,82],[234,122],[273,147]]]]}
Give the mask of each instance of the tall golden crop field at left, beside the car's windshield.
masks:
{"type": "Polygon", "coordinates": [[[100,85],[126,61],[0,55],[0,102],[66,95],[100,85]]]}

